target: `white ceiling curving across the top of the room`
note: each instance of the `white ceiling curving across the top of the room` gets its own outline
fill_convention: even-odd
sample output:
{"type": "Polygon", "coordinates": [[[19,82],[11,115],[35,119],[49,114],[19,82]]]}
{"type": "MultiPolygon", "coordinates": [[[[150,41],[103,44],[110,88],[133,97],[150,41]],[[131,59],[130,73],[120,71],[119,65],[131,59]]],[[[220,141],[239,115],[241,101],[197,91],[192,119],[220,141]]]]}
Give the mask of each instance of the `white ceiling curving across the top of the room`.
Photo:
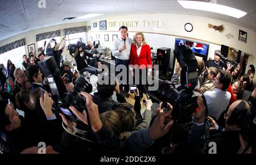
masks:
{"type": "MultiPolygon", "coordinates": [[[[247,12],[240,19],[213,12],[184,9],[175,0],[43,0],[46,8],[39,9],[39,0],[1,0],[0,1],[0,41],[7,37],[36,29],[66,22],[67,17],[79,17],[89,13],[102,13],[105,18],[112,15],[176,13],[206,16],[225,20],[256,31],[256,0],[217,0],[226,5],[247,12]]],[[[197,0],[199,1],[199,0],[197,0]]],[[[209,2],[209,0],[203,0],[209,2]]],[[[91,18],[95,19],[95,18],[91,18]]],[[[89,19],[87,19],[89,20],[89,19]]]]}

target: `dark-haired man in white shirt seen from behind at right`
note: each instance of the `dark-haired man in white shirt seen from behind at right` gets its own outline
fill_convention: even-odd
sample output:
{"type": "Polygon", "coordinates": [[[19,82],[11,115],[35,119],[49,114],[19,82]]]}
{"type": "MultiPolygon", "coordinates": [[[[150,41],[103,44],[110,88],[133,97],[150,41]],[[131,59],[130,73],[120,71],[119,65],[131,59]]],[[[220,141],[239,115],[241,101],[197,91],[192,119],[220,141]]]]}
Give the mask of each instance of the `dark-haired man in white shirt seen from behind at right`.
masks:
{"type": "Polygon", "coordinates": [[[229,87],[230,82],[231,75],[226,71],[220,70],[217,77],[214,78],[214,90],[204,93],[209,116],[218,119],[228,107],[231,94],[226,89],[229,87]]]}

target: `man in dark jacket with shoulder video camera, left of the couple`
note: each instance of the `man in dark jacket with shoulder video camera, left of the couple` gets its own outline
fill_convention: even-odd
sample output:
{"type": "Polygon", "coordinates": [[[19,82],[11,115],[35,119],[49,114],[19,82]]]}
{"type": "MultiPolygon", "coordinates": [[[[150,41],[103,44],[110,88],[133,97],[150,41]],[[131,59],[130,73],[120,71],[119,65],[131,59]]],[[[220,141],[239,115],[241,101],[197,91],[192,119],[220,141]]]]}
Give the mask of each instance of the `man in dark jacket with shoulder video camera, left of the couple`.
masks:
{"type": "Polygon", "coordinates": [[[77,69],[82,74],[84,71],[89,71],[89,73],[92,73],[94,75],[97,75],[97,69],[88,65],[86,61],[86,57],[96,57],[96,54],[88,53],[86,50],[84,50],[81,46],[76,49],[76,52],[74,54],[77,69]]]}

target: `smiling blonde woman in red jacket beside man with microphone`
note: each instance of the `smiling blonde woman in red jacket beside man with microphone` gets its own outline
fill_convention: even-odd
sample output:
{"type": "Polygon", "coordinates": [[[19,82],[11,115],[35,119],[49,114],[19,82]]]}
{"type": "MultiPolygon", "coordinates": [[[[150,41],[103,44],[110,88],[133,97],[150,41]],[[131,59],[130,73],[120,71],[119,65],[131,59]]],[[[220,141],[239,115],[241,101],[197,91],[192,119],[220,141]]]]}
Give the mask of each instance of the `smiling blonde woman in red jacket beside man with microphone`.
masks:
{"type": "MultiPolygon", "coordinates": [[[[139,69],[140,81],[137,84],[139,94],[143,95],[145,91],[141,87],[142,81],[146,81],[147,76],[151,75],[152,62],[150,46],[146,44],[145,38],[142,32],[137,32],[133,37],[133,44],[130,51],[130,70],[134,77],[134,73],[137,73],[139,69]],[[145,74],[142,74],[145,73],[145,74]]],[[[136,84],[136,83],[135,83],[136,84]]],[[[144,84],[144,83],[143,83],[144,84]]]]}

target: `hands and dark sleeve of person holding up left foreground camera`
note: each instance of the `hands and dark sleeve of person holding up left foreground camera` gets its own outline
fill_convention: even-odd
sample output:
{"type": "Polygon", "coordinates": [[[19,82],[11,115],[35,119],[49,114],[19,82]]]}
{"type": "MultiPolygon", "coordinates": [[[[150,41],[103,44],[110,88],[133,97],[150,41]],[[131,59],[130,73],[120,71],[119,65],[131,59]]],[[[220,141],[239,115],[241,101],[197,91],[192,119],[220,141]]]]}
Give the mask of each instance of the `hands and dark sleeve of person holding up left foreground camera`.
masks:
{"type": "MultiPolygon", "coordinates": [[[[100,120],[100,115],[98,113],[98,106],[93,103],[92,96],[87,94],[86,92],[81,92],[81,94],[86,98],[86,108],[88,109],[88,113],[85,111],[78,111],[75,107],[71,106],[69,109],[85,124],[88,125],[88,118],[90,120],[90,126],[92,129],[92,133],[97,138],[97,143],[86,143],[86,141],[80,138],[76,138],[75,136],[65,136],[61,140],[60,146],[64,149],[64,151],[70,152],[74,149],[74,152],[83,151],[83,153],[115,153],[119,150],[120,140],[111,129],[108,128],[105,124],[100,120]],[[87,116],[87,114],[89,116],[87,116]],[[77,144],[79,143],[79,144],[77,144]],[[76,146],[76,148],[74,148],[76,146]],[[68,147],[68,149],[67,149],[68,147]],[[66,148],[66,149],[65,149],[66,148]]],[[[60,113],[60,116],[63,119],[64,124],[71,134],[75,134],[75,129],[73,129],[72,122],[68,121],[67,118],[60,113]]]]}

